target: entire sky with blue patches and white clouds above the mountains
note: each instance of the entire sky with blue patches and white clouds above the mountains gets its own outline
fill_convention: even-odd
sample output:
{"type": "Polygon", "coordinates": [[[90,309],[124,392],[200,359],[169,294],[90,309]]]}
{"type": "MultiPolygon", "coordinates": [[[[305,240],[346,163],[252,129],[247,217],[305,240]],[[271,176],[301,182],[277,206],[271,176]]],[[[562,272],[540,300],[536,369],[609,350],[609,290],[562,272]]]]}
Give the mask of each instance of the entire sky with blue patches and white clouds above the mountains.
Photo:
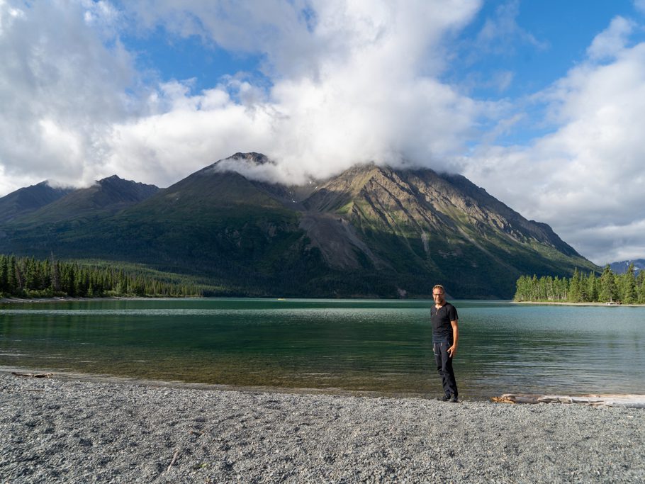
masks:
{"type": "Polygon", "coordinates": [[[645,0],[0,0],[0,196],[415,165],[643,258],[644,40],[645,0]]]}

